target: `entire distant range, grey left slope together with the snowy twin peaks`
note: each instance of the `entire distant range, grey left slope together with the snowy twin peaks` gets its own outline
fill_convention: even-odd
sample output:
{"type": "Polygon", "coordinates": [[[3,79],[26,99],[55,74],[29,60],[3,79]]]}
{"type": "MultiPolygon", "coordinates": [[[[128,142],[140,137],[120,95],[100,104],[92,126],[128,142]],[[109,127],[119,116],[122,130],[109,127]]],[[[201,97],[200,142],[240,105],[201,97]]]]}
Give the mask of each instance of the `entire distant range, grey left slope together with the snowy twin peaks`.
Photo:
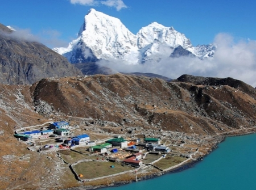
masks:
{"type": "MultiPolygon", "coordinates": [[[[15,32],[14,28],[0,24],[0,83],[24,85],[48,77],[114,74],[118,70],[108,66],[113,61],[136,65],[148,61],[154,64],[166,57],[203,60],[212,57],[216,50],[214,44],[193,47],[184,34],[156,22],[134,35],[119,19],[94,9],[85,15],[77,39],[68,48],[52,50],[29,37],[19,38],[13,35],[15,32]],[[105,60],[104,66],[97,64],[101,60],[105,60]]],[[[153,73],[125,74],[171,80],[153,73]]]]}

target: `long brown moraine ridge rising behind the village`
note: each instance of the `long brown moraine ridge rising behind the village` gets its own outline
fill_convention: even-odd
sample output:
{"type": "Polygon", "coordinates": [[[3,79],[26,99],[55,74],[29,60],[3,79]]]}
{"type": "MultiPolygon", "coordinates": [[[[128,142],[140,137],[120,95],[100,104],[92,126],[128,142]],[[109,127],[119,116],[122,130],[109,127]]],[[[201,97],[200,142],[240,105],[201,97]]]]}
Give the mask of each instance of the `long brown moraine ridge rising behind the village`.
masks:
{"type": "Polygon", "coordinates": [[[43,79],[35,87],[34,102],[43,100],[66,116],[92,117],[115,126],[128,119],[126,127],[197,134],[254,126],[255,89],[234,79],[224,81],[227,85],[202,85],[122,74],[43,79]]]}

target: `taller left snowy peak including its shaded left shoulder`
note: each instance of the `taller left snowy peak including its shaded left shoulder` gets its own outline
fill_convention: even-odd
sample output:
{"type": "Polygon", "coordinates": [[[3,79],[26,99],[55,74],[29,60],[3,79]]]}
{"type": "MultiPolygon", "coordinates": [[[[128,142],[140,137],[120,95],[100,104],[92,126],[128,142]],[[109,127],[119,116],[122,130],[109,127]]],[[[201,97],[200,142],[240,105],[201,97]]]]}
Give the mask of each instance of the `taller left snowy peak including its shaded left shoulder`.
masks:
{"type": "MultiPolygon", "coordinates": [[[[68,48],[55,48],[54,50],[67,56],[72,63],[77,57],[76,53],[69,53],[74,49],[85,49],[97,59],[100,58],[119,58],[127,60],[127,56],[134,54],[137,62],[138,48],[136,44],[136,36],[127,29],[118,18],[90,9],[85,15],[78,39],[69,43],[68,48]],[[89,49],[89,51],[88,51],[89,49]]],[[[85,56],[86,57],[86,56],[85,56]]],[[[80,60],[82,62],[84,60],[80,60]]]]}

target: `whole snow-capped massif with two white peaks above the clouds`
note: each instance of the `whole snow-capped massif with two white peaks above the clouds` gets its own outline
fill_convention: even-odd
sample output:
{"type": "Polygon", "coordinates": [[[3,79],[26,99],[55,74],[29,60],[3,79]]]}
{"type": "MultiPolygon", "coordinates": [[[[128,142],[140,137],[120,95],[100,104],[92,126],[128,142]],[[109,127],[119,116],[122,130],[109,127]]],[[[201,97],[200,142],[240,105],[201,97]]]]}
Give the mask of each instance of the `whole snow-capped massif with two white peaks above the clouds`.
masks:
{"type": "Polygon", "coordinates": [[[193,47],[183,33],[156,22],[134,35],[119,19],[90,9],[77,39],[69,43],[68,48],[53,50],[67,57],[72,64],[100,59],[140,64],[149,60],[158,62],[163,56],[179,57],[181,49],[203,59],[213,56],[216,47],[213,44],[193,47]],[[171,56],[177,47],[175,56],[171,56]]]}

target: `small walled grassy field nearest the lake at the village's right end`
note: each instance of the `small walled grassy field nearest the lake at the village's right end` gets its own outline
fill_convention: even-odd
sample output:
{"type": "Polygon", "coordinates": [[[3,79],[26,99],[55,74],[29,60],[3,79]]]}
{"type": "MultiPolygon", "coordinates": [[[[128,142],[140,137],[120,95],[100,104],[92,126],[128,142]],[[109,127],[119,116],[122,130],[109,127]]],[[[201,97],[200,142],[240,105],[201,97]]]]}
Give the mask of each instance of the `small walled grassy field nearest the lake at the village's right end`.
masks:
{"type": "Polygon", "coordinates": [[[171,157],[167,156],[166,158],[160,159],[160,161],[154,163],[155,166],[159,167],[160,169],[164,170],[168,167],[175,166],[183,161],[185,161],[187,158],[183,157],[171,157]]]}

